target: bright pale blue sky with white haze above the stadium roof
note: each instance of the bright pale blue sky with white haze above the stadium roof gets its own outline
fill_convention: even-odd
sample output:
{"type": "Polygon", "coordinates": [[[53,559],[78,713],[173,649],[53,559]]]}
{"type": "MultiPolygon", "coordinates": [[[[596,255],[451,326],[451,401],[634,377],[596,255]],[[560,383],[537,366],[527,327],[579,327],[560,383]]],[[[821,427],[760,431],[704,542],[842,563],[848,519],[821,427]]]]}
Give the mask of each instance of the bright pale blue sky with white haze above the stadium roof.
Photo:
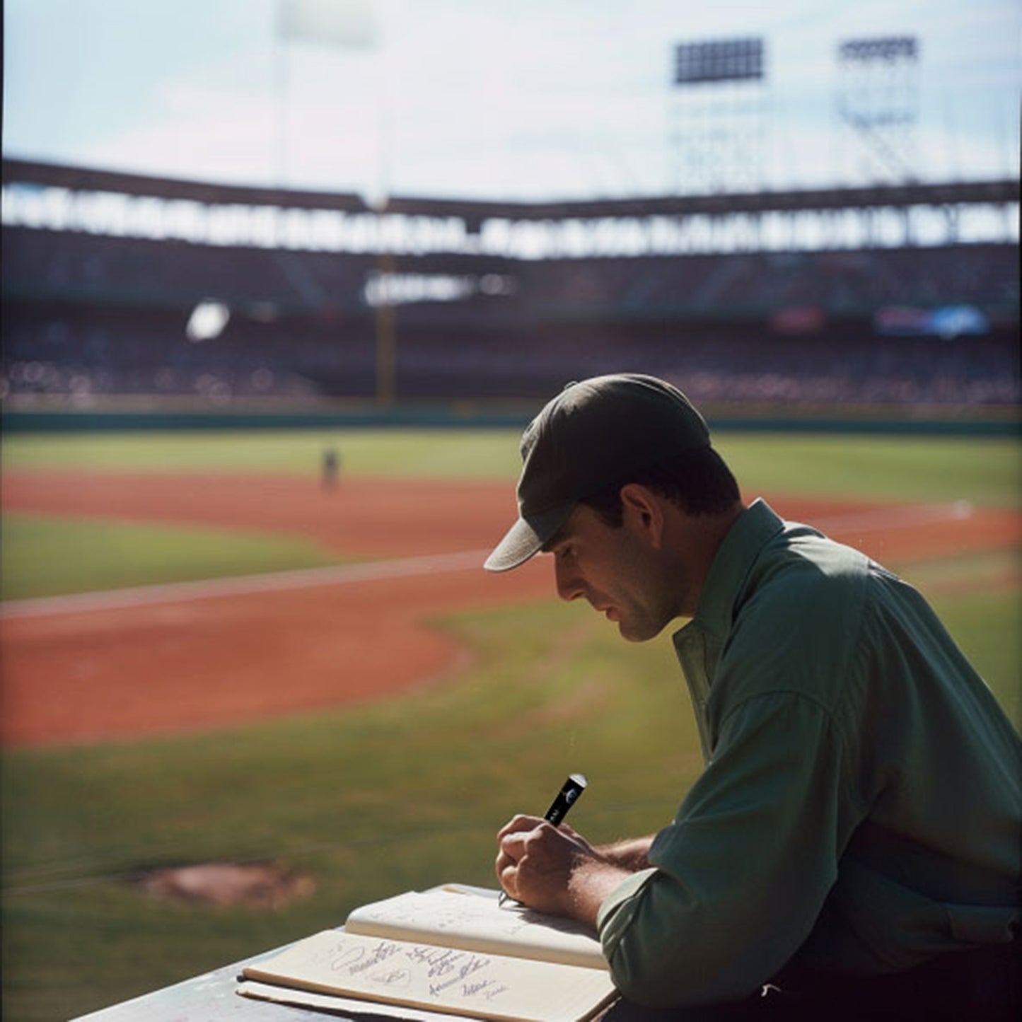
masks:
{"type": "Polygon", "coordinates": [[[367,194],[662,194],[673,44],[761,35],[756,176],[861,183],[875,165],[837,129],[837,45],[913,35],[919,176],[1017,172],[1018,0],[361,0],[376,45],[359,49],[282,43],[277,2],[5,0],[5,153],[367,194]]]}

